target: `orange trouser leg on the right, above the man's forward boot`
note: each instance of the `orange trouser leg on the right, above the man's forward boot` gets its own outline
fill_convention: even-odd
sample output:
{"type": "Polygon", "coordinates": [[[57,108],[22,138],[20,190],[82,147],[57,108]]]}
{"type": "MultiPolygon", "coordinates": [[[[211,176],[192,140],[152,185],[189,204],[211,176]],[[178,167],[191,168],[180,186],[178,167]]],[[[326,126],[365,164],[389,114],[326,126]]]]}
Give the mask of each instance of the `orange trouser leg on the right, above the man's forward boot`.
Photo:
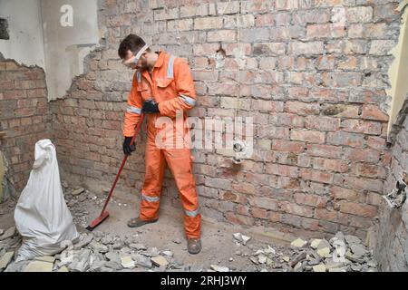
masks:
{"type": "Polygon", "coordinates": [[[199,238],[201,216],[196,181],[192,174],[191,153],[189,149],[164,149],[164,156],[176,180],[181,203],[184,208],[184,229],[189,238],[199,238]]]}

